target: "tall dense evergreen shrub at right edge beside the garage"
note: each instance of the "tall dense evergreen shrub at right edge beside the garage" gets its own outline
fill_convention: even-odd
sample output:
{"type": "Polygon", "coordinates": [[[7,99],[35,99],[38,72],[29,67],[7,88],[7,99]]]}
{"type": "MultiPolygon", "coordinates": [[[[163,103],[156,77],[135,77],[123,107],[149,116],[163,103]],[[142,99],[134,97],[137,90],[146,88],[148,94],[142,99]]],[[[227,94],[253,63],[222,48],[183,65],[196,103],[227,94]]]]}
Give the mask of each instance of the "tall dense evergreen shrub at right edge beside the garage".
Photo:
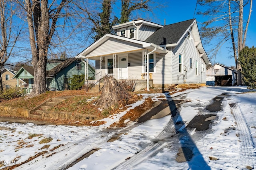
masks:
{"type": "Polygon", "coordinates": [[[256,48],[244,47],[239,53],[244,84],[249,88],[256,88],[256,48]]]}

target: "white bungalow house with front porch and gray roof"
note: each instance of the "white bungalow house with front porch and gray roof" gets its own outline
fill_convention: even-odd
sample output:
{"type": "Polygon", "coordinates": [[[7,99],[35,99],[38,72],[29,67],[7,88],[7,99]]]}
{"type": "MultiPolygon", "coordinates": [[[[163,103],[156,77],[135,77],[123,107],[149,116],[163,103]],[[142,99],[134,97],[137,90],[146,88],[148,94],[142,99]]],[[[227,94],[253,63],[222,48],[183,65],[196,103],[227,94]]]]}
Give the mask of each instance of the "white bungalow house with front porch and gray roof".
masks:
{"type": "Polygon", "coordinates": [[[76,56],[95,60],[96,74],[134,80],[137,90],[206,84],[210,61],[195,19],[170,25],[140,19],[112,28],[116,35],[104,35],[76,56]]]}

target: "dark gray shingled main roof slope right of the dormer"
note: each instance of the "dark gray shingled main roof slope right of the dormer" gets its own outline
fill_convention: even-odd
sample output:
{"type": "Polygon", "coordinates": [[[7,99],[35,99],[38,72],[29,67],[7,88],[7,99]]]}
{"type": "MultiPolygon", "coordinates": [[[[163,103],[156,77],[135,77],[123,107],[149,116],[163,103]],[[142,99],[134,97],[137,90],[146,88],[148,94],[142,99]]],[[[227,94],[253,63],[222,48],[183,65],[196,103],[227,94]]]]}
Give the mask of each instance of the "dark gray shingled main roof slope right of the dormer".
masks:
{"type": "Polygon", "coordinates": [[[145,42],[154,43],[156,45],[177,43],[194,20],[195,19],[165,25],[155,31],[145,42]]]}

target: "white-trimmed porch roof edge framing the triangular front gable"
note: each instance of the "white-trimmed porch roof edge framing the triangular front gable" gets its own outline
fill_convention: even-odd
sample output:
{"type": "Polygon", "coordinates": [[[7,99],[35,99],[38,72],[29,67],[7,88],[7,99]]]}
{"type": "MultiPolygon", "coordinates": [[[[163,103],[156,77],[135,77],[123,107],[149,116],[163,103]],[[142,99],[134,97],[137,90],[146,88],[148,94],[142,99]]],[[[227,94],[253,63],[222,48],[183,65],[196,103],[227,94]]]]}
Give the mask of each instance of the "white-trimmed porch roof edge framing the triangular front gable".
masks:
{"type": "MultiPolygon", "coordinates": [[[[119,40],[123,40],[123,41],[128,41],[128,42],[131,42],[131,43],[136,43],[136,44],[142,45],[141,49],[148,49],[149,51],[153,51],[156,48],[156,53],[168,53],[167,49],[164,49],[163,47],[155,45],[154,43],[148,43],[148,42],[139,41],[139,40],[136,40],[136,39],[121,37],[121,36],[118,36],[118,35],[105,34],[103,37],[98,39],[98,41],[95,41],[92,45],[87,47],[84,51],[82,51],[81,53],[76,55],[76,58],[90,58],[90,57],[87,57],[87,55],[89,53],[91,53],[92,51],[94,51],[94,49],[96,49],[97,47],[102,45],[102,43],[104,43],[105,41],[107,41],[110,38],[119,39],[119,40]]],[[[126,53],[126,52],[127,51],[122,51],[120,53],[126,53]]],[[[113,53],[104,54],[104,55],[112,55],[112,54],[113,53]]]]}

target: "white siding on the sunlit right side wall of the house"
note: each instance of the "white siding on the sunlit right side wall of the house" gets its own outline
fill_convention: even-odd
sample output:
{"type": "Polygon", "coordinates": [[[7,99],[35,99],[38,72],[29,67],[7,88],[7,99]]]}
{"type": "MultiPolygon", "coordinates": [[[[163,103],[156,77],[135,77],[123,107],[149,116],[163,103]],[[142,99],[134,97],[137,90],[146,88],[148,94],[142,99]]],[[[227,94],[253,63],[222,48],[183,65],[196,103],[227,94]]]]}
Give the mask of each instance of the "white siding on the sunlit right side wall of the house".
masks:
{"type": "MultiPolygon", "coordinates": [[[[195,47],[194,35],[191,32],[191,40],[182,38],[182,41],[172,51],[172,84],[205,84],[206,72],[201,72],[204,60],[200,58],[198,49],[195,47]],[[183,73],[179,72],[179,55],[182,55],[183,73]],[[190,58],[192,68],[190,68],[190,58]],[[196,61],[198,61],[198,75],[196,75],[196,61]],[[184,70],[187,70],[185,72],[184,70]]],[[[206,65],[205,65],[206,67],[206,65]]],[[[206,68],[205,68],[206,70],[206,68]]]]}

